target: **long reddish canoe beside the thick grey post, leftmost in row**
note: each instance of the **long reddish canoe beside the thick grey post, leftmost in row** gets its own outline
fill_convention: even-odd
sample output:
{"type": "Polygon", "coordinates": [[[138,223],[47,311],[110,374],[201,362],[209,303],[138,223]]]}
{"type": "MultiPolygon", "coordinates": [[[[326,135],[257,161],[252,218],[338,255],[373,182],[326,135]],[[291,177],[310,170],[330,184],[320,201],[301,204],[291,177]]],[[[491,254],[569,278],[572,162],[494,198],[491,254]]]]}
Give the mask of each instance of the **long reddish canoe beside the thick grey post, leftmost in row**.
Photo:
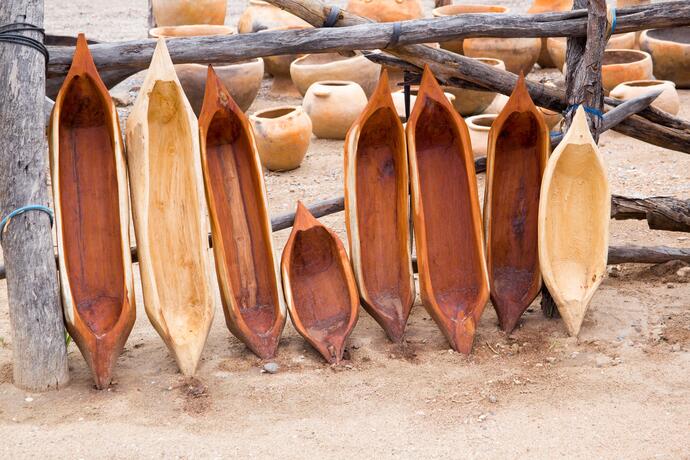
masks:
{"type": "Polygon", "coordinates": [[[120,122],[83,34],[55,100],[49,141],[65,323],[104,389],[136,311],[120,122]]]}

